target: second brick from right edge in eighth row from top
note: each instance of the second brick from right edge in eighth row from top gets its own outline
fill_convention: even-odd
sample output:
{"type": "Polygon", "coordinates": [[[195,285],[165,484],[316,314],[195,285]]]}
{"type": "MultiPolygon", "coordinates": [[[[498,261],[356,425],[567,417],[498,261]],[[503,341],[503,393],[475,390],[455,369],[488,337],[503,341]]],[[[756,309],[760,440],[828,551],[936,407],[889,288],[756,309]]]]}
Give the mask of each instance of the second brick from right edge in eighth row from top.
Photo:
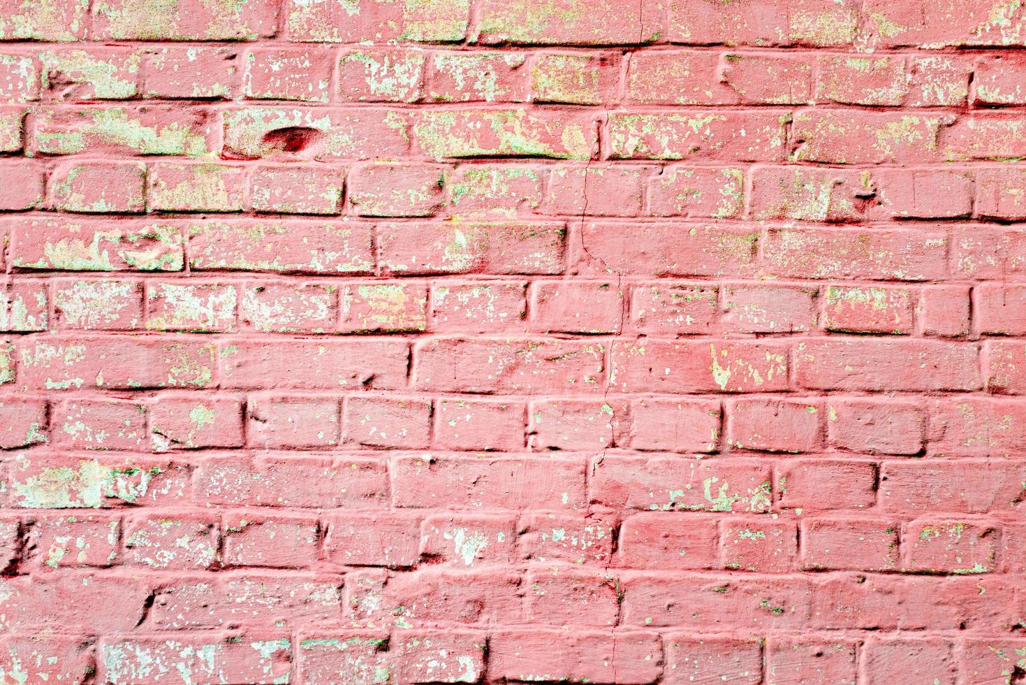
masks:
{"type": "Polygon", "coordinates": [[[925,440],[925,414],[917,403],[871,399],[831,401],[827,407],[830,444],[842,450],[918,454],[925,440]]]}

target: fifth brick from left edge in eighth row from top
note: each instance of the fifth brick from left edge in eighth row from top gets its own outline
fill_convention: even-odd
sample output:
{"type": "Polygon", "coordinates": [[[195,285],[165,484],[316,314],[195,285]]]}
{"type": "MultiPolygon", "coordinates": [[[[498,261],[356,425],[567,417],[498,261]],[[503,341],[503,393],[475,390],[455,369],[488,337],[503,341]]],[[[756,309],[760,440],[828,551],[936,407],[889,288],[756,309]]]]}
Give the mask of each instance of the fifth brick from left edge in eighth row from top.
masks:
{"type": "Polygon", "coordinates": [[[413,398],[349,397],[346,440],[372,447],[428,446],[431,403],[413,398]]]}

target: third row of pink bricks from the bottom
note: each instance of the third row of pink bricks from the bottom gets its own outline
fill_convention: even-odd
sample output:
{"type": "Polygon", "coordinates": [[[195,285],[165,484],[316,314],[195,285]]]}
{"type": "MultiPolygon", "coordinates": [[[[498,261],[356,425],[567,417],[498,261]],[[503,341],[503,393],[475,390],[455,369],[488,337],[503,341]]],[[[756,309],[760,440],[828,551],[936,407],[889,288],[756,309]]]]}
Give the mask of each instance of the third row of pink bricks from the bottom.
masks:
{"type": "MultiPolygon", "coordinates": [[[[510,515],[374,511],[318,519],[175,510],[125,520],[100,513],[5,517],[0,518],[0,569],[7,575],[119,564],[182,571],[245,566],[330,570],[336,565],[509,568],[528,562],[602,567],[554,573],[558,566],[547,566],[528,572],[524,585],[531,588],[532,603],[573,595],[575,586],[615,585],[616,568],[954,574],[1026,569],[1021,555],[1026,547],[1018,541],[1026,527],[943,516],[905,523],[885,517],[805,518],[799,530],[794,521],[734,515],[717,521],[663,511],[618,522],[601,515],[530,513],[518,520],[510,515]],[[582,575],[593,582],[582,581],[582,575]]],[[[611,599],[614,604],[593,606],[581,620],[613,624],[611,599]]]]}

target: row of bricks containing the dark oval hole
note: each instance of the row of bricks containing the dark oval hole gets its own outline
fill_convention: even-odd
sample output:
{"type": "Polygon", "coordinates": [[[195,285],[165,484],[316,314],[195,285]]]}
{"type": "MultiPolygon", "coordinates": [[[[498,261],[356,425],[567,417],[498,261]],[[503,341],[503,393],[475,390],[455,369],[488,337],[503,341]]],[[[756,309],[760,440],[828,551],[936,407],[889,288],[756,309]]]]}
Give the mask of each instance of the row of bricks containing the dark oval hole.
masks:
{"type": "Polygon", "coordinates": [[[0,151],[255,159],[550,157],[923,164],[1026,156],[1022,112],[179,105],[0,109],[0,151]],[[26,114],[32,117],[26,125],[26,114]],[[222,123],[223,122],[223,123],[222,123]],[[28,141],[26,142],[26,129],[28,141]],[[600,135],[601,134],[601,135],[600,135]]]}

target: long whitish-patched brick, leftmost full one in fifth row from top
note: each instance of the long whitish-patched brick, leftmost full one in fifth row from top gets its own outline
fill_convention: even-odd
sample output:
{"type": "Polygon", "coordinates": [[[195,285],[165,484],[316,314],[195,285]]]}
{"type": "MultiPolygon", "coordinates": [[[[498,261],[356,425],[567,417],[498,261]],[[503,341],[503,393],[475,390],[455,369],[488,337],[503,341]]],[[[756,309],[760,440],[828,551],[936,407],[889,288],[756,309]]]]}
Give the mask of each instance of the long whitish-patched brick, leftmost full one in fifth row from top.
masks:
{"type": "Polygon", "coordinates": [[[181,231],[170,224],[28,219],[13,225],[13,266],[65,271],[181,271],[181,231]],[[35,236],[43,233],[45,240],[35,236]]]}

